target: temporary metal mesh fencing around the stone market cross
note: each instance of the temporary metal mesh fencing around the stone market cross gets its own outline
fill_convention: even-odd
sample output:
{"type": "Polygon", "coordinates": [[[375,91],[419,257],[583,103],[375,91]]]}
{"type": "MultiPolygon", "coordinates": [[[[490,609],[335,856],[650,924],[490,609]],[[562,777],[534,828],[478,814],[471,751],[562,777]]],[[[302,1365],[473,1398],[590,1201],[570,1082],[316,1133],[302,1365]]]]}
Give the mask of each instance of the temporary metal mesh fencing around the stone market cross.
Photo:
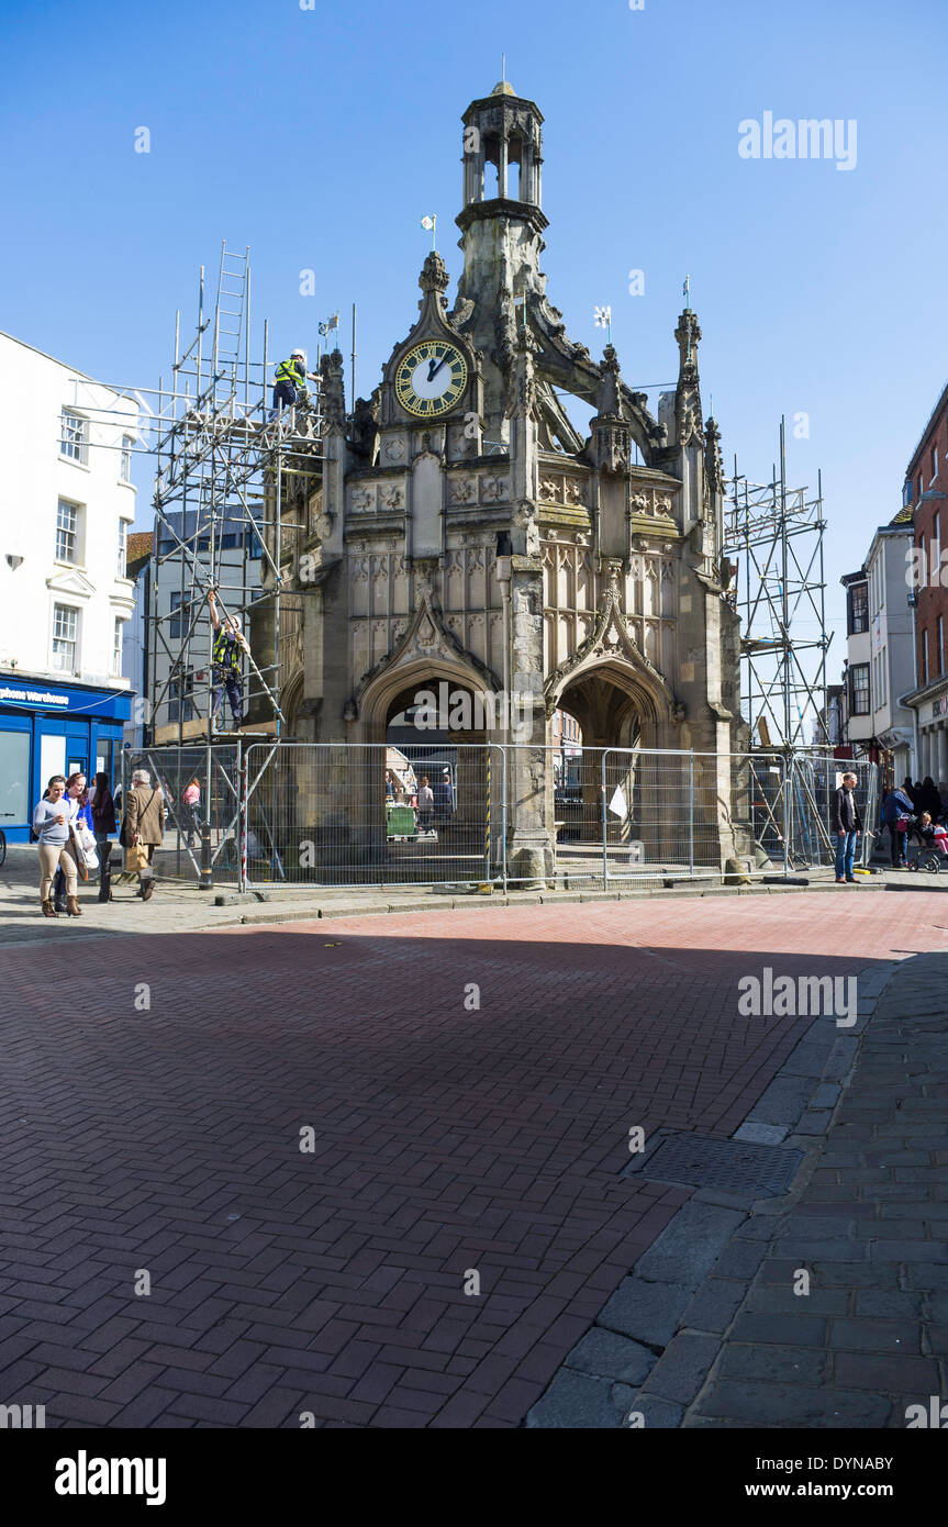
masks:
{"type": "Polygon", "coordinates": [[[124,788],[136,767],[165,796],[157,875],[241,890],[789,878],[832,869],[844,771],[863,863],[878,817],[875,765],[815,750],[237,738],[127,753],[124,788]]]}

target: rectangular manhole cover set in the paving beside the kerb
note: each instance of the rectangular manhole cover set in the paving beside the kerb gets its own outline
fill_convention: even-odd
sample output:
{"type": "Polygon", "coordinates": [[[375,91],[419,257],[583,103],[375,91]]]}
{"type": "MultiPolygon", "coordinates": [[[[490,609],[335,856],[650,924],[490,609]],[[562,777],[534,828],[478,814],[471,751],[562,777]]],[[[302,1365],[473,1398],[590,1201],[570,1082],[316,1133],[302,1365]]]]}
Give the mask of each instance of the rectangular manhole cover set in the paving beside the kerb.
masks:
{"type": "Polygon", "coordinates": [[[786,1193],[801,1161],[801,1150],[779,1145],[719,1141],[707,1135],[666,1135],[644,1161],[626,1167],[624,1176],[772,1199],[786,1193]]]}

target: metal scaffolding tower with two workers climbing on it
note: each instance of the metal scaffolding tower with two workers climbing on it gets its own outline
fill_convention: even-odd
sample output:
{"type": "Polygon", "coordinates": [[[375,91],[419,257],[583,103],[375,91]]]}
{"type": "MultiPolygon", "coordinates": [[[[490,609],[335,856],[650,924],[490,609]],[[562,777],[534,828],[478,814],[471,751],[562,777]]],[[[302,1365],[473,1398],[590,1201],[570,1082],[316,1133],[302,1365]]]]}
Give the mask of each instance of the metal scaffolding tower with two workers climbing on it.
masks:
{"type": "MultiPolygon", "coordinates": [[[[183,776],[203,782],[202,820],[195,820],[202,884],[212,883],[215,854],[240,841],[249,745],[276,750],[285,734],[281,676],[305,597],[295,573],[322,486],[319,382],[305,399],[275,412],[269,348],[264,322],[263,347],[250,351],[250,252],[229,250],[224,241],[214,293],[200,267],[197,319],[186,347],[180,310],[176,316],[169,383],[160,377],[157,389],[113,388],[139,408],[131,450],[154,458],[145,756],[160,747],[166,760],[166,745],[176,748],[176,789],[153,767],[173,818],[183,809],[183,776]],[[226,738],[214,715],[209,592],[220,620],[240,617],[249,635],[246,673],[238,675],[246,719],[226,738]]],[[[353,318],[353,368],[354,348],[353,318]]],[[[114,409],[98,412],[99,425],[113,423],[114,409]]],[[[191,846],[186,854],[198,869],[191,846]]]]}

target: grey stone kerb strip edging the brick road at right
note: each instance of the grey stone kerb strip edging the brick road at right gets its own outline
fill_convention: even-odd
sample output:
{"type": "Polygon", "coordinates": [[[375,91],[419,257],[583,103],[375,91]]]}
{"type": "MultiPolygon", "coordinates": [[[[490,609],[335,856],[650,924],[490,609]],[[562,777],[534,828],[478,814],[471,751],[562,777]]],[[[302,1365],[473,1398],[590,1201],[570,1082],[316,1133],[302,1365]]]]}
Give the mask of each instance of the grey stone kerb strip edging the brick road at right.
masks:
{"type": "MultiPolygon", "coordinates": [[[[817,1170],[859,1035],[899,964],[856,973],[855,1025],[841,1034],[824,1015],[814,1019],[731,1136],[801,1150],[789,1190],[768,1199],[696,1190],[606,1301],[525,1426],[675,1429],[692,1423],[690,1408],[721,1358],[774,1229],[817,1170]],[[635,1387],[632,1376],[641,1370],[635,1387]]],[[[695,1425],[707,1420],[696,1417],[695,1425]]]]}

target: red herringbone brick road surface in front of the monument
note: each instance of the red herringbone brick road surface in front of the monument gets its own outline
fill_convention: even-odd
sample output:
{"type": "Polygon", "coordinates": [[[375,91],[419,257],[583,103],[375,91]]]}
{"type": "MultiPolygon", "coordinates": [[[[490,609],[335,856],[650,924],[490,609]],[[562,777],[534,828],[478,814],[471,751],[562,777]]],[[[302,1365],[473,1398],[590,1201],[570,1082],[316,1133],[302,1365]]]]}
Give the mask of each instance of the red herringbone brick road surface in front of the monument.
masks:
{"type": "Polygon", "coordinates": [[[478,907],[0,951],[0,1402],[49,1426],[516,1426],[688,1197],[617,1176],[629,1128],[731,1135],[811,1022],[737,1017],[739,976],[942,948],[945,906],[478,907]]]}

